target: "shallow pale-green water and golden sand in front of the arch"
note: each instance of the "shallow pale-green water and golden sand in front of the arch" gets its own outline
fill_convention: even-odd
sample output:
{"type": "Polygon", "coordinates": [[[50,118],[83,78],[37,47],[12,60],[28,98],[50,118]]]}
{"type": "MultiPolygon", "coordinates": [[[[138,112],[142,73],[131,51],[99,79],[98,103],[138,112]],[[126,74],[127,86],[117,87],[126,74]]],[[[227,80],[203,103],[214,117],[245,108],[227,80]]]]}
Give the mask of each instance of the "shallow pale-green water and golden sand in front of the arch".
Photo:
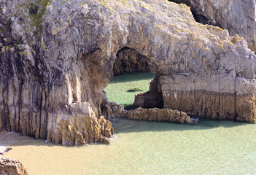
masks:
{"type": "MultiPolygon", "coordinates": [[[[133,75],[134,76],[134,75],[133,75]]],[[[198,125],[113,120],[109,145],[63,147],[0,133],[4,157],[33,174],[256,174],[256,125],[201,120],[198,125]]]]}

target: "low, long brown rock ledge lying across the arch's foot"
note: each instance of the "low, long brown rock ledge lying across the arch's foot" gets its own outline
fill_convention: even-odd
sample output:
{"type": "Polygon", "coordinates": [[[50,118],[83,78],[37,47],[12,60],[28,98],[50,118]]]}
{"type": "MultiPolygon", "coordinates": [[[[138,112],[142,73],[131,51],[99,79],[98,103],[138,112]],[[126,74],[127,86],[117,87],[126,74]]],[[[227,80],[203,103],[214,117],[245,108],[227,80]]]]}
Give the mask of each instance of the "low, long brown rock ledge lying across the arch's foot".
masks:
{"type": "Polygon", "coordinates": [[[190,118],[185,112],[171,109],[143,109],[141,107],[133,111],[123,112],[123,116],[132,120],[147,120],[168,123],[198,123],[198,119],[190,118]]]}

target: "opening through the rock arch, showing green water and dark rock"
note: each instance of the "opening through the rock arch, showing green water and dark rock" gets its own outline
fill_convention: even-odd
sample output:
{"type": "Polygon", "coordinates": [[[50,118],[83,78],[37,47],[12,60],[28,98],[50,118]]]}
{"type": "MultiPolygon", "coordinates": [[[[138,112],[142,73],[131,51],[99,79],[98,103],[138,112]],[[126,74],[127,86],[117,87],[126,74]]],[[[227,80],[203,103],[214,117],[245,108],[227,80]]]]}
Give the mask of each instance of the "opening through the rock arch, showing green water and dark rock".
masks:
{"type": "Polygon", "coordinates": [[[163,108],[163,96],[158,92],[158,77],[150,72],[149,59],[138,51],[123,47],[117,52],[113,79],[104,91],[109,101],[126,110],[136,107],[163,108]]]}

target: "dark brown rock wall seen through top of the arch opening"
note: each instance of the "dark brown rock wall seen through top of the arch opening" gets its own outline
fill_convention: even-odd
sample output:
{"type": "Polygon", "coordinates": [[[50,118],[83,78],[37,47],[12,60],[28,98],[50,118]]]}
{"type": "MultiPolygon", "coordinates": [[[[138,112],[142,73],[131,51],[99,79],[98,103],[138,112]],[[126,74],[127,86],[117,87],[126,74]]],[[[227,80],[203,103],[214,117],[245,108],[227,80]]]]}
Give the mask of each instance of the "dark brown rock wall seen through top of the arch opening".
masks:
{"type": "Polygon", "coordinates": [[[139,52],[137,52],[136,50],[124,47],[117,52],[117,56],[113,66],[114,74],[148,70],[150,70],[150,67],[147,63],[147,57],[139,54],[139,52]]]}

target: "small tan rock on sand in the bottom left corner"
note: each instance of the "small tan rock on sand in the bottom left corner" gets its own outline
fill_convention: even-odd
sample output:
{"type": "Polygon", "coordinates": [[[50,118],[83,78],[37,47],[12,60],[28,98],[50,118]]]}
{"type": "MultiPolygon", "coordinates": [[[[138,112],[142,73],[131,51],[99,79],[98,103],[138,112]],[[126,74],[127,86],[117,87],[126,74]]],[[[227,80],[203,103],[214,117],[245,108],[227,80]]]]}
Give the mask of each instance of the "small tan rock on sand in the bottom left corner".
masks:
{"type": "Polygon", "coordinates": [[[26,168],[18,160],[0,158],[0,174],[2,175],[27,175],[26,168]]]}

